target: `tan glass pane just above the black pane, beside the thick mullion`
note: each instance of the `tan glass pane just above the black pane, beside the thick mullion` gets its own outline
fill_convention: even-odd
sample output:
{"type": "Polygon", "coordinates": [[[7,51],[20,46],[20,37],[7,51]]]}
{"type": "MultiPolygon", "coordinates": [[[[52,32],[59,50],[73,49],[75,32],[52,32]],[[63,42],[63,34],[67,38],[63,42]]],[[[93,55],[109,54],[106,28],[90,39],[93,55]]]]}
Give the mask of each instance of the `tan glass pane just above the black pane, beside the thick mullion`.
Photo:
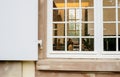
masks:
{"type": "Polygon", "coordinates": [[[116,24],[105,23],[104,24],[104,36],[115,36],[116,35],[116,24]]]}

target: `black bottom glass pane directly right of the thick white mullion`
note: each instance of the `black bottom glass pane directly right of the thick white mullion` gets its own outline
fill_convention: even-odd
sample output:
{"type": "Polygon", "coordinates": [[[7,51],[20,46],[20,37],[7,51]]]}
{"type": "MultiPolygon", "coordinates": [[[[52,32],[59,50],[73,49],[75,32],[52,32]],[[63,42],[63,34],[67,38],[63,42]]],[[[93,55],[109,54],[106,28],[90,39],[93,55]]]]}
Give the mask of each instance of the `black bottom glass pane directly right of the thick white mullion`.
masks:
{"type": "Polygon", "coordinates": [[[116,51],[116,38],[104,38],[104,51],[116,51]]]}

